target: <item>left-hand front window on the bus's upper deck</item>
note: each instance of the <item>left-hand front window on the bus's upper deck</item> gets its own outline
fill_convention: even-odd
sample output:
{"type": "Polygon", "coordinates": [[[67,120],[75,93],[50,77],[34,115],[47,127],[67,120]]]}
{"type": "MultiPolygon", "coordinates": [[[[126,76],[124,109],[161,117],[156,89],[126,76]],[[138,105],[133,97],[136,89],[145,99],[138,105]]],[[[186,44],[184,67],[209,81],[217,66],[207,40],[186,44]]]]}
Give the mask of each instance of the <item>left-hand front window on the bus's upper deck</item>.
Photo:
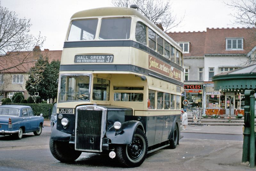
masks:
{"type": "Polygon", "coordinates": [[[98,19],[72,21],[68,34],[68,41],[95,39],[98,19]]]}

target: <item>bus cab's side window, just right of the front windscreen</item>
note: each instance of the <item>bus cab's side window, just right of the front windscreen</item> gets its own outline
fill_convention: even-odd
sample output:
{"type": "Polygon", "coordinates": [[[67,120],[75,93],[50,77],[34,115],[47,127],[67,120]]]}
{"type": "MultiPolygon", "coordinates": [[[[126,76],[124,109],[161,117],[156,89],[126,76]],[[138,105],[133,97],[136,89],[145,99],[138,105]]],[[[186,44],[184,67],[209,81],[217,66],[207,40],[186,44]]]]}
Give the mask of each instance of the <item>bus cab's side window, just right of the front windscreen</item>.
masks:
{"type": "Polygon", "coordinates": [[[109,80],[93,78],[92,100],[109,100],[109,80]]]}

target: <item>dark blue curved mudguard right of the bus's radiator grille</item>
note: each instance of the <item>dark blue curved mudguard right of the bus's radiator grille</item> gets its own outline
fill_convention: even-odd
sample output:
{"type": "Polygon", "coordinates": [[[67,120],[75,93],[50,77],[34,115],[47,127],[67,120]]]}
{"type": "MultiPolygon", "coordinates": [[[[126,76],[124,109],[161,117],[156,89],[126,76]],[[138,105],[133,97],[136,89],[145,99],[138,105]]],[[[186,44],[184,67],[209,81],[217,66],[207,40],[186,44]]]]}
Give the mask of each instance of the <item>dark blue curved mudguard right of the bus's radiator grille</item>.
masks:
{"type": "Polygon", "coordinates": [[[130,144],[137,128],[145,132],[140,121],[127,121],[122,123],[119,130],[116,130],[114,126],[110,127],[106,132],[106,136],[111,140],[112,144],[130,144]]]}

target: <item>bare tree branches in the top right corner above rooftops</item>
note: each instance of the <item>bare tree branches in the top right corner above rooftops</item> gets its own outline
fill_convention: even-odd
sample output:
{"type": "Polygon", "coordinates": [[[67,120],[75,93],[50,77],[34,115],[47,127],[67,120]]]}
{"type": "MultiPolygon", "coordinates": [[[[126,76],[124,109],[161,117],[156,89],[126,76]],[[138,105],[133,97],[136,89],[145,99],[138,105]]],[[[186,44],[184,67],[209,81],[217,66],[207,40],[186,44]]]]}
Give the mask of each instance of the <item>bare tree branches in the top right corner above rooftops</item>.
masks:
{"type": "Polygon", "coordinates": [[[248,27],[256,26],[256,1],[255,0],[232,0],[226,3],[236,11],[231,14],[235,18],[236,24],[248,27]]]}

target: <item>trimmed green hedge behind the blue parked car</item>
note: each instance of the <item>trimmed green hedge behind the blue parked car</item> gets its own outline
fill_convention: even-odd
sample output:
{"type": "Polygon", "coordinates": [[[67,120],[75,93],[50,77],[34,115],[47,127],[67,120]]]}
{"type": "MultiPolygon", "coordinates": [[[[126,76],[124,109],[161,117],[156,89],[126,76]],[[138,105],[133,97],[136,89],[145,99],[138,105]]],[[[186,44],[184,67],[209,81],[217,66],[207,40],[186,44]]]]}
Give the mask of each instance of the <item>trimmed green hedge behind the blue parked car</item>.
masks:
{"type": "MultiPolygon", "coordinates": [[[[49,108],[50,112],[52,112],[53,104],[41,104],[41,103],[6,103],[6,104],[17,104],[17,105],[25,105],[30,106],[32,110],[34,111],[34,114],[39,116],[41,113],[43,113],[44,118],[49,118],[49,108]]],[[[51,115],[51,114],[50,114],[51,115]]]]}

